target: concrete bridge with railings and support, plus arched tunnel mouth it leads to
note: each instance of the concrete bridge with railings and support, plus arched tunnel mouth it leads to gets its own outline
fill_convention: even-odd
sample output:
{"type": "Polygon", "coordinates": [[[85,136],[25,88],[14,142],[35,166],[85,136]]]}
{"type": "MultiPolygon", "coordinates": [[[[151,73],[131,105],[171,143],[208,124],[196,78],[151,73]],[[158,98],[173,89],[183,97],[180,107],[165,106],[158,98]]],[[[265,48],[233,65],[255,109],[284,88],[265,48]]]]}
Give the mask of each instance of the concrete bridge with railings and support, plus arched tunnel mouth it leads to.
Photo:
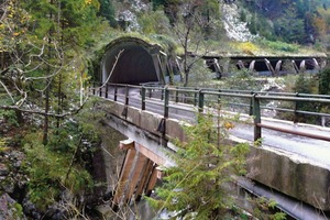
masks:
{"type": "Polygon", "coordinates": [[[273,198],[278,207],[296,219],[327,219],[330,211],[330,129],[277,120],[270,111],[283,111],[267,106],[272,101],[293,102],[285,111],[298,116],[327,118],[330,114],[297,109],[298,102],[330,105],[330,97],[297,94],[229,91],[138,86],[168,81],[162,48],[141,40],[121,40],[109,46],[101,62],[102,86],[95,95],[102,97],[99,111],[103,123],[114,128],[129,140],[119,146],[127,151],[112,208],[142,195],[150,195],[161,166],[172,166],[166,152],[175,152],[172,139],[185,141],[183,123],[195,123],[196,111],[213,111],[222,103],[223,112],[238,111],[241,122],[230,133],[232,142],[250,142],[249,165],[258,170],[248,182],[238,185],[257,196],[273,198]],[[116,58],[121,54],[119,58],[116,58]],[[118,61],[117,61],[118,59],[118,61]],[[112,69],[114,63],[119,65],[112,69]],[[145,74],[147,73],[147,74],[145,74]],[[116,82],[116,84],[113,84],[116,82]],[[123,84],[132,84],[123,85],[123,84]],[[253,141],[263,139],[260,147],[253,141]],[[328,216],[327,216],[328,215],[328,216]]]}

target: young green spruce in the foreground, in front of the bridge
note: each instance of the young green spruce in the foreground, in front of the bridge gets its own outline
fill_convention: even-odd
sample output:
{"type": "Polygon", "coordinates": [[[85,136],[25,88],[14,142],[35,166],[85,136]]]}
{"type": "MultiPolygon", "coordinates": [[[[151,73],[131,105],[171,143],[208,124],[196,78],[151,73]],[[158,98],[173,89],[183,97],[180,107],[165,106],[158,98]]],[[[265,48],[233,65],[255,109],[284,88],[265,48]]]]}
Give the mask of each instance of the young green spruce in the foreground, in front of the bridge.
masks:
{"type": "MultiPolygon", "coordinates": [[[[220,127],[221,132],[227,130],[223,124],[220,127]]],[[[165,169],[165,183],[156,189],[157,198],[148,200],[160,210],[176,211],[176,217],[219,219],[232,207],[226,184],[232,175],[244,173],[250,147],[226,145],[211,116],[199,117],[199,123],[186,128],[186,132],[187,143],[177,142],[179,150],[172,155],[176,166],[165,169]]]]}

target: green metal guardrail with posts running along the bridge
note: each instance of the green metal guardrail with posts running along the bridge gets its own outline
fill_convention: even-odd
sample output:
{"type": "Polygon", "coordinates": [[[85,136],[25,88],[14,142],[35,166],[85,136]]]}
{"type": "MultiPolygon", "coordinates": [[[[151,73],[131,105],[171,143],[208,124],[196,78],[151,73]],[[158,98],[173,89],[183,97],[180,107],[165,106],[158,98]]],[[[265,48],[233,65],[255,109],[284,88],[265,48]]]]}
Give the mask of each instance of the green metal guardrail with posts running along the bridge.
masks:
{"type": "Polygon", "coordinates": [[[130,88],[138,88],[141,95],[141,110],[145,110],[147,99],[158,99],[164,103],[163,117],[166,119],[169,116],[169,101],[174,103],[190,103],[198,108],[199,112],[204,112],[206,107],[212,107],[215,103],[226,103],[228,106],[235,106],[238,109],[248,109],[248,113],[253,117],[254,122],[254,141],[262,138],[262,129],[271,129],[284,133],[307,136],[317,140],[330,142],[330,136],[310,134],[306,132],[286,130],[268,124],[262,123],[262,110],[277,110],[289,112],[294,114],[294,122],[297,122],[298,114],[309,114],[315,117],[330,117],[330,113],[318,111],[305,111],[298,109],[298,103],[301,102],[317,102],[329,107],[330,96],[326,95],[310,95],[310,94],[290,94],[290,92],[265,92],[265,91],[246,91],[246,90],[221,90],[210,88],[189,88],[189,87],[160,87],[155,85],[122,85],[122,84],[107,84],[107,86],[99,87],[98,91],[94,90],[94,95],[109,98],[109,87],[112,88],[113,101],[118,101],[118,97],[123,98],[125,106],[130,105],[130,88]],[[124,89],[124,94],[119,94],[118,89],[124,89]],[[103,96],[105,95],[105,96],[103,96]],[[226,99],[227,98],[227,99],[226,99]],[[230,100],[237,99],[235,102],[230,100]],[[227,101],[226,101],[227,100],[227,101]],[[245,100],[245,101],[243,101],[245,100]],[[293,102],[293,109],[267,107],[263,106],[264,101],[286,101],[293,102]]]}

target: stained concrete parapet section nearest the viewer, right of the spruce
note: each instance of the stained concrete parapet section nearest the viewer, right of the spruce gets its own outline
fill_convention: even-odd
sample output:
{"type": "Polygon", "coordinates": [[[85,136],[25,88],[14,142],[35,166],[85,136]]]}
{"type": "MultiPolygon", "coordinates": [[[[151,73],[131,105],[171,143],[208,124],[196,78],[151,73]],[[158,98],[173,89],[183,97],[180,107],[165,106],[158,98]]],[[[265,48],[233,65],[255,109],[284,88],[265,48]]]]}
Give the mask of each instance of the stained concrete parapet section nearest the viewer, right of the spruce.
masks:
{"type": "Polygon", "coordinates": [[[330,170],[296,154],[270,147],[252,147],[252,179],[317,209],[330,210],[330,170]]]}

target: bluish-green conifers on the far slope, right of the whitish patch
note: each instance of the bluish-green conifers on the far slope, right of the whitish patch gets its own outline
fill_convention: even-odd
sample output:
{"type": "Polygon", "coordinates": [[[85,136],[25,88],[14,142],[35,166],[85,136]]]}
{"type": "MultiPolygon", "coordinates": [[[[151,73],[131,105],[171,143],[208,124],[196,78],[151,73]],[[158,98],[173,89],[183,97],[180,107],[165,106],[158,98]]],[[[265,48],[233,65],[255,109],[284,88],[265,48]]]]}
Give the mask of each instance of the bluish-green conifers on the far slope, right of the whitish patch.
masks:
{"type": "MultiPolygon", "coordinates": [[[[315,19],[320,18],[317,8],[322,3],[316,0],[272,1],[255,0],[242,1],[243,7],[252,13],[249,29],[252,33],[271,41],[288,43],[315,43],[316,37],[321,38],[318,32],[320,26],[315,25],[315,19]]],[[[318,20],[323,26],[324,20],[318,20]]],[[[323,30],[323,28],[321,28],[323,30]]],[[[324,35],[323,35],[324,36],[324,35]]]]}

